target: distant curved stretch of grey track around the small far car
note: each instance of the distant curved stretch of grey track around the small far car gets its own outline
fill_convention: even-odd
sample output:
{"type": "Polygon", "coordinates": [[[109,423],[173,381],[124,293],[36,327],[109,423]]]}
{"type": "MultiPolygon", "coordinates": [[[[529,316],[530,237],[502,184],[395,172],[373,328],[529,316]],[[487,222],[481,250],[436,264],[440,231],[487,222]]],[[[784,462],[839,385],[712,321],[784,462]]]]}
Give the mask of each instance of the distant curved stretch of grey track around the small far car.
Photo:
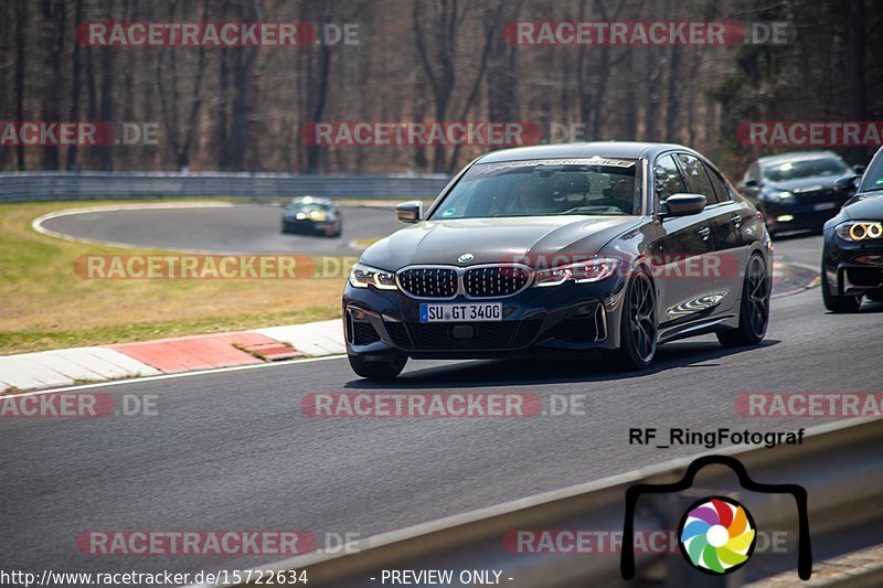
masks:
{"type": "Polygon", "coordinates": [[[353,239],[389,235],[401,223],[387,209],[347,206],[340,237],[283,235],[283,209],[223,207],[129,209],[67,214],[49,218],[50,231],[85,239],[196,253],[355,255],[353,239]]]}

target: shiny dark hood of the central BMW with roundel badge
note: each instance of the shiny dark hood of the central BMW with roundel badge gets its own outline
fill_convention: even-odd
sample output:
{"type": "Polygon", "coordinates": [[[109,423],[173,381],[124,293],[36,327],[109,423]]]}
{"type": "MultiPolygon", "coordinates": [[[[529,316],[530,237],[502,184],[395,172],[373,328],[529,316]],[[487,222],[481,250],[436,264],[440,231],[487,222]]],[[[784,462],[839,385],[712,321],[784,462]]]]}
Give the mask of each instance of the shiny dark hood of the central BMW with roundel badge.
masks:
{"type": "Polygon", "coordinates": [[[424,221],[369,247],[362,263],[390,271],[417,264],[470,266],[525,254],[595,255],[641,224],[638,216],[529,216],[424,221]],[[462,254],[475,257],[458,264],[462,254]]]}

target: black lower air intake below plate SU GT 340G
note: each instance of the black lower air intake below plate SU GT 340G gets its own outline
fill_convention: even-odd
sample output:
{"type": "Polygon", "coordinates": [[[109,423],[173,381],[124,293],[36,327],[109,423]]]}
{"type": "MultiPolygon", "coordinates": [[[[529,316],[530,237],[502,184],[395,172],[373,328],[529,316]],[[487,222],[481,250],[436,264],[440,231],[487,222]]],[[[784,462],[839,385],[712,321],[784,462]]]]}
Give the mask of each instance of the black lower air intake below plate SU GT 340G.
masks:
{"type": "MultiPolygon", "coordinates": [[[[386,323],[386,330],[393,342],[402,349],[415,350],[481,350],[481,349],[520,349],[528,346],[536,336],[542,321],[508,322],[458,322],[426,324],[411,322],[404,330],[394,334],[386,323]],[[474,329],[475,336],[458,339],[454,336],[454,328],[468,325],[474,329]],[[411,335],[409,338],[407,335],[411,335]],[[413,343],[412,343],[413,341],[413,343]]],[[[398,323],[402,324],[402,323],[398,323]]]]}

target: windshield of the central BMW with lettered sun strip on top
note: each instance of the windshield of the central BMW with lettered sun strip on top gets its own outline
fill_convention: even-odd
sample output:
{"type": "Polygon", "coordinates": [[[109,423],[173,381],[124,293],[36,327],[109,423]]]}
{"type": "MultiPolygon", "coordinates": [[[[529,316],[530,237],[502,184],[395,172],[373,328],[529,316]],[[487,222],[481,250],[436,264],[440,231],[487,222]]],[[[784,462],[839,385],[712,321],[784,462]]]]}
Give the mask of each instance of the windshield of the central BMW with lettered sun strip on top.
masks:
{"type": "Polygon", "coordinates": [[[477,163],[430,220],[640,214],[635,160],[543,159],[477,163]]]}

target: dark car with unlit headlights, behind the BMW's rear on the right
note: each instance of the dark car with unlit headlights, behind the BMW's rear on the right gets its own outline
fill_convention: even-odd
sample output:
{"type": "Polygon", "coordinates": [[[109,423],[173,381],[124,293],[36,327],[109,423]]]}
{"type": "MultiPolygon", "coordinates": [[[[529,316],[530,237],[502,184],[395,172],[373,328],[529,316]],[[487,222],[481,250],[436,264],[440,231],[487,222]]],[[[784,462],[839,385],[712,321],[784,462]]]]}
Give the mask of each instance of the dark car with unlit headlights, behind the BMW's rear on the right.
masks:
{"type": "Polygon", "coordinates": [[[821,231],[848,195],[834,189],[852,169],[833,151],[799,151],[756,160],[738,191],[760,211],[770,235],[821,231]]]}

